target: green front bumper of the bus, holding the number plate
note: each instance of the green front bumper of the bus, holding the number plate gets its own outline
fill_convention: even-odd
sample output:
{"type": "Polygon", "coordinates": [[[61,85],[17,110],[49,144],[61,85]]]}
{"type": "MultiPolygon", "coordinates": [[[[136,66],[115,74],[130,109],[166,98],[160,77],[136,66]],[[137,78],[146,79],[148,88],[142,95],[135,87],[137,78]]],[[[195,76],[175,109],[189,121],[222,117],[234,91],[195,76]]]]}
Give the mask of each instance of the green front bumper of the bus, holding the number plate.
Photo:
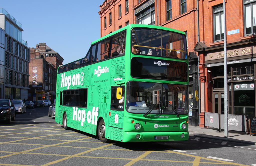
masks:
{"type": "Polygon", "coordinates": [[[188,132],[124,132],[123,142],[187,141],[188,137],[188,132]]]}

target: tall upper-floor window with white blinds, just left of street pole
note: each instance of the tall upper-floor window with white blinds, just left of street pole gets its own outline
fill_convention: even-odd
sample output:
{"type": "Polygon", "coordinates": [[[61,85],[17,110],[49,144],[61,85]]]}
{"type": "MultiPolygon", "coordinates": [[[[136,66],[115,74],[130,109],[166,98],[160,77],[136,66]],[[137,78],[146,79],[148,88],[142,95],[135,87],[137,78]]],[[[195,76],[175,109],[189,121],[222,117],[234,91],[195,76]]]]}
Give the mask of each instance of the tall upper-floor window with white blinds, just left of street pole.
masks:
{"type": "Polygon", "coordinates": [[[224,15],[223,5],[215,6],[213,8],[213,21],[214,21],[214,41],[224,39],[224,15]]]}

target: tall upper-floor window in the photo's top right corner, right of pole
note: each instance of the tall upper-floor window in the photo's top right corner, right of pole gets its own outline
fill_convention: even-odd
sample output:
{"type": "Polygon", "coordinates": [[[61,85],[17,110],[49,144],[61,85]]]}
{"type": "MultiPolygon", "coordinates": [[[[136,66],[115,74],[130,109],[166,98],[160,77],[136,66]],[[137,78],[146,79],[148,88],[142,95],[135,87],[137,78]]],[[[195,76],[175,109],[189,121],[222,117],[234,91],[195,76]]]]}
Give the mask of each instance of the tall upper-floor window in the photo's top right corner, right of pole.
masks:
{"type": "Polygon", "coordinates": [[[256,33],[256,0],[243,0],[245,35],[256,33]]]}

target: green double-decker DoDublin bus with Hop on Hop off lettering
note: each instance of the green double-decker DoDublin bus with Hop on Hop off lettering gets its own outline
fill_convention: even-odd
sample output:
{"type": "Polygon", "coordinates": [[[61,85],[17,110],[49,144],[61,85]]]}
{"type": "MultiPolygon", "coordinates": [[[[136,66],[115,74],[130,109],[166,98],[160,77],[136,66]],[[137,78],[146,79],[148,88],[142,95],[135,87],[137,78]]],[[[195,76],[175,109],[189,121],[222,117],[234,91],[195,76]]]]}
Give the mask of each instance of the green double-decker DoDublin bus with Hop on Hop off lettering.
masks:
{"type": "Polygon", "coordinates": [[[185,33],[130,24],[58,68],[55,121],[104,143],[186,141],[188,85],[185,33]]]}

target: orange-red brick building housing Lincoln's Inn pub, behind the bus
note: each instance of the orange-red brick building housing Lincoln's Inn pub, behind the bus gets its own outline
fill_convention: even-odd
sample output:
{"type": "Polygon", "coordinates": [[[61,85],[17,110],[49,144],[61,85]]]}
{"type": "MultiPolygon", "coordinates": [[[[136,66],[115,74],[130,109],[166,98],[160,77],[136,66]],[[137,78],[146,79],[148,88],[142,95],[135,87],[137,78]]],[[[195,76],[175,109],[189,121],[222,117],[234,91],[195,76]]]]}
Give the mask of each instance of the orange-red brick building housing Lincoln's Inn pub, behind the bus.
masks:
{"type": "MultiPolygon", "coordinates": [[[[256,0],[226,1],[230,114],[255,116],[255,7],[256,0]]],[[[189,81],[193,82],[189,88],[192,124],[204,126],[204,111],[224,113],[223,0],[105,0],[99,15],[101,36],[131,23],[186,32],[189,81]],[[199,103],[193,95],[198,84],[199,103]]]]}

